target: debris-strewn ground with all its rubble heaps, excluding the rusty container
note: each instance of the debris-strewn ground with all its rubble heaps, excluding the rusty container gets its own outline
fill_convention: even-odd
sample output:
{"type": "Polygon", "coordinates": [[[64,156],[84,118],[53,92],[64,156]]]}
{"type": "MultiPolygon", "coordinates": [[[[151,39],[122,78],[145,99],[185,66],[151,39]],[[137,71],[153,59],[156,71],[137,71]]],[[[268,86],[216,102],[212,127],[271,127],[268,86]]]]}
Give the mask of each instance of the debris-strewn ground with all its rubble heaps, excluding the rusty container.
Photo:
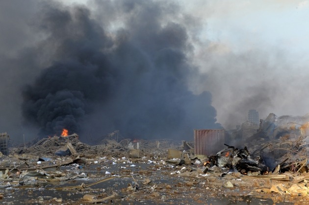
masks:
{"type": "MultiPolygon", "coordinates": [[[[7,155],[0,157],[0,200],[5,204],[21,199],[29,204],[309,203],[306,117],[297,124],[297,117],[270,114],[252,136],[241,138],[237,146],[227,141],[226,148],[213,156],[195,155],[191,142],[124,139],[116,135],[118,131],[96,145],[82,143],[73,134],[9,146],[7,155]]],[[[248,129],[242,131],[248,134],[248,129]]]]}

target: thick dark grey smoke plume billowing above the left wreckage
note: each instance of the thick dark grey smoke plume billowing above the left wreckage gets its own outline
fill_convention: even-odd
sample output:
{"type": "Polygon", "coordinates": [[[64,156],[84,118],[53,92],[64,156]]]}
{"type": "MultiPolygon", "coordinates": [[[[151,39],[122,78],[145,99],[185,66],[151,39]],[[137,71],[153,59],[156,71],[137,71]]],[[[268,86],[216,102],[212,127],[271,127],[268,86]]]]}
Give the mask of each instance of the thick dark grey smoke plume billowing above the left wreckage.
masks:
{"type": "Polygon", "coordinates": [[[92,13],[49,2],[37,14],[31,26],[42,40],[28,58],[43,60],[32,68],[40,70],[34,82],[27,79],[22,88],[26,125],[41,137],[66,128],[81,138],[120,130],[132,138],[192,139],[193,129],[221,128],[211,94],[188,90],[199,73],[176,4],[96,6],[92,13]]]}

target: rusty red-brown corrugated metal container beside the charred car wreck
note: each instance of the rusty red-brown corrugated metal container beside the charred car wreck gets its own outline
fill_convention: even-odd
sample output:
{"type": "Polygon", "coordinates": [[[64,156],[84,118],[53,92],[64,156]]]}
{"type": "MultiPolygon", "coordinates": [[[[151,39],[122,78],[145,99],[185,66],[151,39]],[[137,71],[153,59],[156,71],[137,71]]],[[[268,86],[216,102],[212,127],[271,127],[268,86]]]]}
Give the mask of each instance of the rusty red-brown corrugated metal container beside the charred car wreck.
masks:
{"type": "Polygon", "coordinates": [[[194,130],[194,153],[215,155],[224,149],[225,130],[194,130]]]}

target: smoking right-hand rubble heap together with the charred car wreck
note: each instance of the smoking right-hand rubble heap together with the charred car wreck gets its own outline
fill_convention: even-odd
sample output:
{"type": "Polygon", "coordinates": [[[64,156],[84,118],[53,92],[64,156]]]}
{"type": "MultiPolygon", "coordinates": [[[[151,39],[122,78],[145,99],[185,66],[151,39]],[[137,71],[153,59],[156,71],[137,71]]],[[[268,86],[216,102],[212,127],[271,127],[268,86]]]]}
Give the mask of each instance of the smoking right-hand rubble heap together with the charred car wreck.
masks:
{"type": "Polygon", "coordinates": [[[259,127],[246,121],[237,130],[226,133],[229,143],[244,148],[226,144],[228,147],[209,156],[206,164],[228,167],[242,173],[258,171],[259,174],[275,170],[280,173],[309,170],[309,114],[277,117],[271,113],[265,120],[260,120],[259,127]]]}

